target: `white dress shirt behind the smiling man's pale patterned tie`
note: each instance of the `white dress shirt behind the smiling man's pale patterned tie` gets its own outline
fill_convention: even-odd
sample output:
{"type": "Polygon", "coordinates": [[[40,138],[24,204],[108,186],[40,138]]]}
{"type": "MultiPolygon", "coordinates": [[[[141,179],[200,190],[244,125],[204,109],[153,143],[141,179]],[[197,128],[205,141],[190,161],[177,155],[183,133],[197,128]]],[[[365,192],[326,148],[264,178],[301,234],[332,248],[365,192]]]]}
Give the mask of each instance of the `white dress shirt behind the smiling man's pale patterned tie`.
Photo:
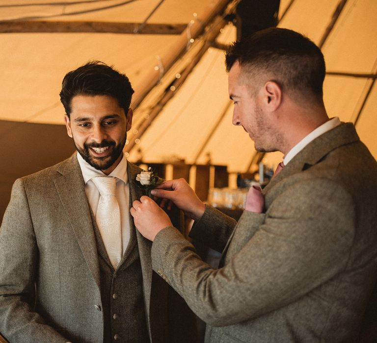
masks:
{"type": "MultiPolygon", "coordinates": [[[[90,208],[94,216],[97,213],[100,192],[91,180],[95,176],[104,176],[105,174],[87,163],[79,153],[77,153],[82,177],[85,183],[85,193],[89,201],[90,208]]],[[[130,184],[127,176],[127,159],[122,157],[116,168],[108,175],[116,177],[116,199],[120,209],[120,226],[122,230],[122,256],[130,242],[130,184]]]]}

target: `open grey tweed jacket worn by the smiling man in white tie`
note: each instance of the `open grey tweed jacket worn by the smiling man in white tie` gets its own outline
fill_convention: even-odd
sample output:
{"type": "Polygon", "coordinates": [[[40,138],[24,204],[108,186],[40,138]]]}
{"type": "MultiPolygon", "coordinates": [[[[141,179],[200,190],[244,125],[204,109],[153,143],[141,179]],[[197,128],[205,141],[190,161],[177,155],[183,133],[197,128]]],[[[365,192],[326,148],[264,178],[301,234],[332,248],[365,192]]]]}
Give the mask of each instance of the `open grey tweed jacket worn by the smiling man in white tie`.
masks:
{"type": "MultiPolygon", "coordinates": [[[[145,194],[133,183],[140,169],[128,163],[127,172],[131,206],[145,194]]],[[[180,225],[178,211],[171,219],[180,225]]],[[[130,224],[135,230],[133,220],[130,224]]],[[[138,231],[136,238],[151,340],[174,342],[178,332],[186,342],[194,341],[194,317],[153,272],[151,242],[138,231]]],[[[11,343],[103,343],[100,284],[93,221],[76,154],[16,180],[0,229],[2,335],[11,343]]]]}

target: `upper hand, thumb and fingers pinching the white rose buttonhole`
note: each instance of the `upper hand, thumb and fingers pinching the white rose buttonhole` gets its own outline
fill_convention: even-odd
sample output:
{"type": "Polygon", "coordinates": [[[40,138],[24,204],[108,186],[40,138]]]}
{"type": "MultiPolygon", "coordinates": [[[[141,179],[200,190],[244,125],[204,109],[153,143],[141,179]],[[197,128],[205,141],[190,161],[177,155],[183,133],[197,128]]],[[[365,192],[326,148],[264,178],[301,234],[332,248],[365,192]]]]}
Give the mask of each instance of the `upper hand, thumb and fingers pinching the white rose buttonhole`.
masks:
{"type": "Polygon", "coordinates": [[[194,221],[198,221],[206,209],[185,179],[165,181],[152,190],[151,194],[171,200],[194,221]]]}

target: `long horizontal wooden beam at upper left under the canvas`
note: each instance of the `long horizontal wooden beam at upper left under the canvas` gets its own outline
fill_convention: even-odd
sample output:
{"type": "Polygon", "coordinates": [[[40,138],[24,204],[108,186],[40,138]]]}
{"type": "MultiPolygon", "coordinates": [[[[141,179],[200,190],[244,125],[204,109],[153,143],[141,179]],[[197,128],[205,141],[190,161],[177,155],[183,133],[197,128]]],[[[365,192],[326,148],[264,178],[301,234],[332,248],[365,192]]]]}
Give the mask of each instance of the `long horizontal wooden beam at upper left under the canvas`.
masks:
{"type": "Polygon", "coordinates": [[[181,34],[186,24],[144,24],[110,22],[50,22],[50,21],[4,21],[0,33],[54,32],[54,33],[120,33],[120,34],[181,34]]]}

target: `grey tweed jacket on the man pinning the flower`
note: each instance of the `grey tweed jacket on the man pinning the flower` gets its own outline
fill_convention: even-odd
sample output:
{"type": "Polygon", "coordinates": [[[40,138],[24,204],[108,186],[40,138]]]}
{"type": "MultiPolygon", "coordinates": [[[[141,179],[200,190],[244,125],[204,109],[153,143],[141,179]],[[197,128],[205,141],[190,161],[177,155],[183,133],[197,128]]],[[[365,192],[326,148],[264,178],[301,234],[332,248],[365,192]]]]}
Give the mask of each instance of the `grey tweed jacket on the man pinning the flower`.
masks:
{"type": "Polygon", "coordinates": [[[190,236],[171,227],[152,265],[207,322],[207,342],[354,342],[376,281],[377,163],[351,123],[316,138],[236,223],[210,206],[190,236]]]}

